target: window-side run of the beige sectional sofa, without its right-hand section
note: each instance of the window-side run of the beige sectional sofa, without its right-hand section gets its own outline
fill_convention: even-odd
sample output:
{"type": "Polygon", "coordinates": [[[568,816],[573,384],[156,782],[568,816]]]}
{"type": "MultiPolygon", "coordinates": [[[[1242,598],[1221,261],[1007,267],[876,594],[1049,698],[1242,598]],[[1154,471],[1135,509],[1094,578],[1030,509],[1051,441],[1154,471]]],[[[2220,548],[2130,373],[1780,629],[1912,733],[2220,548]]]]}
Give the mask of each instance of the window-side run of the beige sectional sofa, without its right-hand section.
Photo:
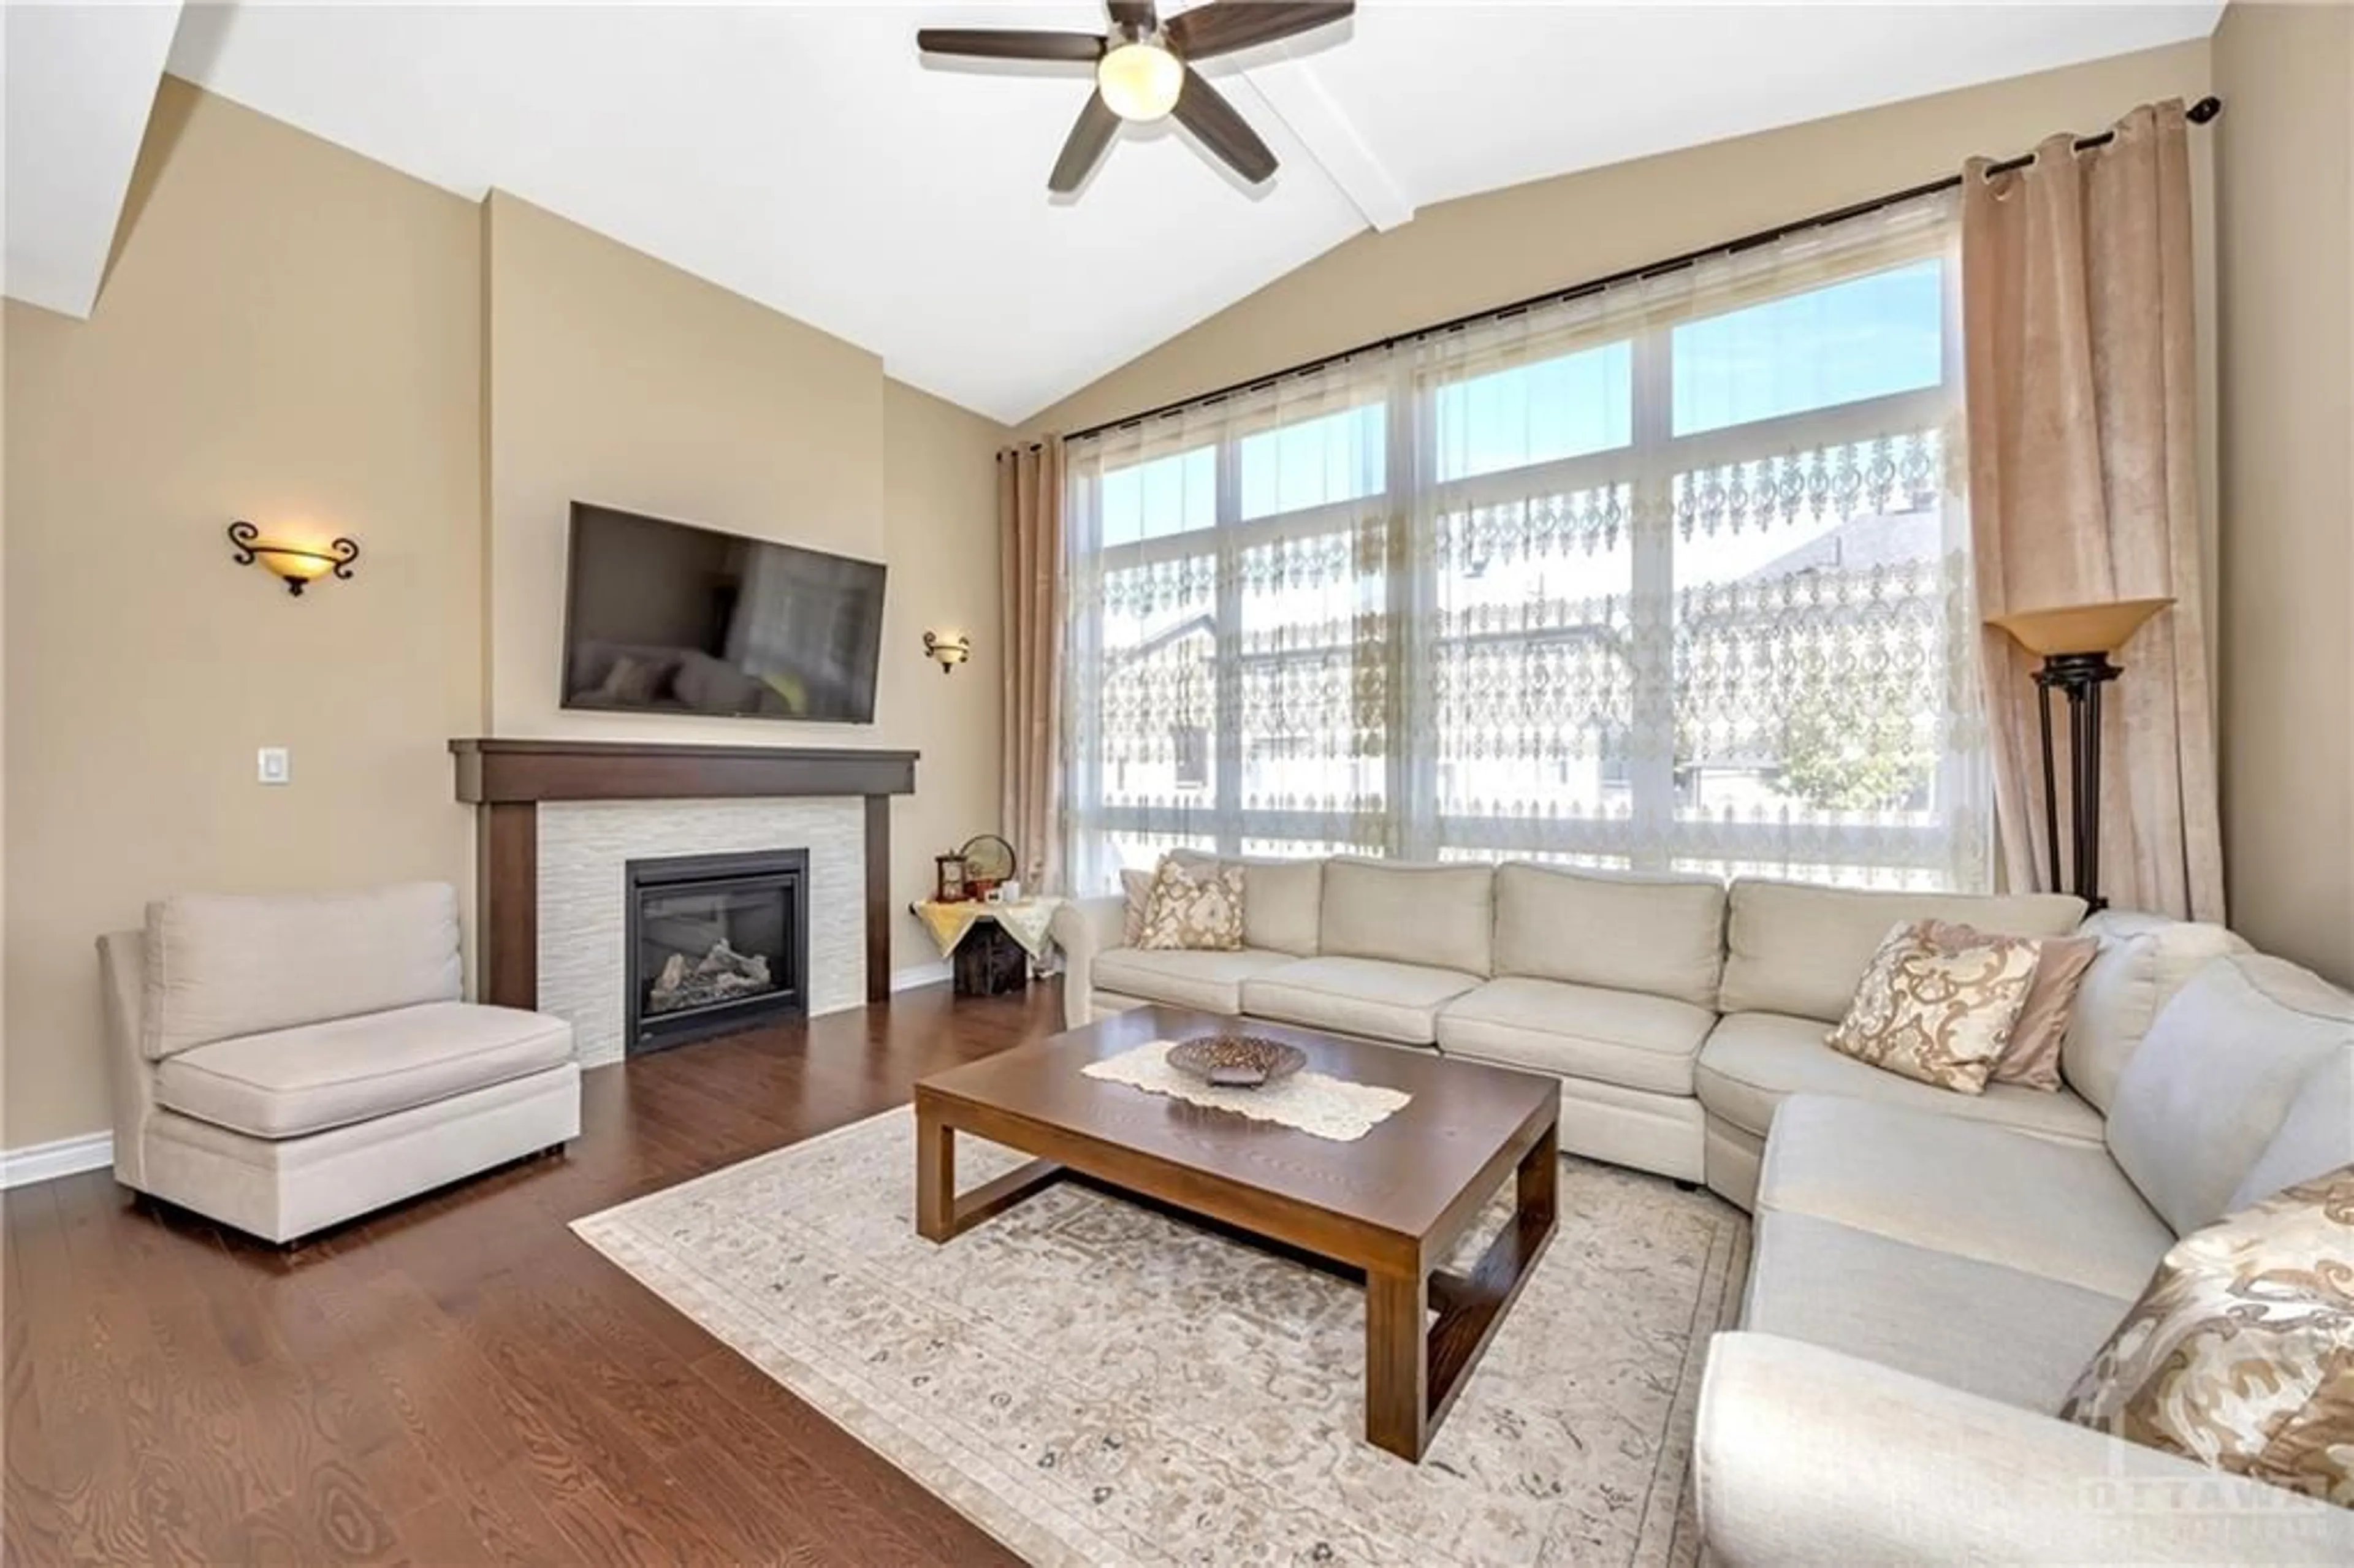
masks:
{"type": "MultiPolygon", "coordinates": [[[[1949,918],[2043,937],[2081,916],[2079,899],[2055,895],[1758,878],[1725,888],[1335,857],[1243,862],[1243,951],[1130,949],[1121,897],[1064,906],[1055,935],[1073,1026],[1170,1003],[1547,1071],[1561,1078],[1563,1149],[1704,1180],[1749,1205],[1766,1128],[1789,1095],[1963,1099],[1822,1048],[1893,923],[1949,918]]],[[[2199,951],[2232,942],[2185,930],[2199,951]]],[[[2100,1114],[2074,1092],[1996,1085],[1966,1104],[1968,1116],[2048,1137],[2097,1144],[2102,1135],[2100,1114]]]]}

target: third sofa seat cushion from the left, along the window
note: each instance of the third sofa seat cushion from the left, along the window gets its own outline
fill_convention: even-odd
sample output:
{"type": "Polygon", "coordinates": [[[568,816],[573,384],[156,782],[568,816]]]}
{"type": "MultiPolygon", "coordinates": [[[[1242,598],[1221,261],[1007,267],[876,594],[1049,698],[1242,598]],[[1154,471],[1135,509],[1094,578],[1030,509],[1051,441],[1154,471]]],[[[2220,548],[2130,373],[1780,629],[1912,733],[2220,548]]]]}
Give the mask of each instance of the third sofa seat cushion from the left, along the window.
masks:
{"type": "Polygon", "coordinates": [[[1693,1092],[1693,1057],[1716,1015],[1641,991],[1504,977],[1438,1015],[1438,1050],[1655,1095],[1693,1092]]]}

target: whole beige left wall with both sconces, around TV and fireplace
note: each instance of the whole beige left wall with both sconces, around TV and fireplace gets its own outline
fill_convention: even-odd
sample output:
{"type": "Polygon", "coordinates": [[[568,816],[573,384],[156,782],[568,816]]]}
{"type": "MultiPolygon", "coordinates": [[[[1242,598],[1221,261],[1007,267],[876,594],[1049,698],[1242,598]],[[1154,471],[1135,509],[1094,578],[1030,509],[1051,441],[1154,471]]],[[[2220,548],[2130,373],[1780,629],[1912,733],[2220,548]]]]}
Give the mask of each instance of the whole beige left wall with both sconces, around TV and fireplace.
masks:
{"type": "MultiPolygon", "coordinates": [[[[177,80],[122,226],[92,320],[5,313],[0,1144],[106,1128],[94,939],[148,897],[443,878],[471,909],[452,735],[918,749],[895,897],[996,824],[1000,426],[177,80]],[[887,560],[878,723],[560,713],[574,494],[887,560]],[[292,600],[231,563],[238,516],[351,532],[355,582],[292,600]],[[254,784],[264,744],[292,786],[254,784]]],[[[902,918],[895,968],[935,958],[902,918]]]]}

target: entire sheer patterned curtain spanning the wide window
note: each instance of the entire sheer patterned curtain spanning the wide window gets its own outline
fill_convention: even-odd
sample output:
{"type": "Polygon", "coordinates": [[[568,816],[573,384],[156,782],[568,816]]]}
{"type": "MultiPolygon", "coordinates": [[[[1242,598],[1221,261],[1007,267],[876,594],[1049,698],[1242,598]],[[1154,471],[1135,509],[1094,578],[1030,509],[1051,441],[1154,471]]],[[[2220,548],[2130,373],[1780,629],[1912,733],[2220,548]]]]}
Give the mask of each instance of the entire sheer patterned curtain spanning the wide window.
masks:
{"type": "Polygon", "coordinates": [[[1949,202],[1069,447],[1073,888],[1177,843],[1980,888],[1949,202]]]}

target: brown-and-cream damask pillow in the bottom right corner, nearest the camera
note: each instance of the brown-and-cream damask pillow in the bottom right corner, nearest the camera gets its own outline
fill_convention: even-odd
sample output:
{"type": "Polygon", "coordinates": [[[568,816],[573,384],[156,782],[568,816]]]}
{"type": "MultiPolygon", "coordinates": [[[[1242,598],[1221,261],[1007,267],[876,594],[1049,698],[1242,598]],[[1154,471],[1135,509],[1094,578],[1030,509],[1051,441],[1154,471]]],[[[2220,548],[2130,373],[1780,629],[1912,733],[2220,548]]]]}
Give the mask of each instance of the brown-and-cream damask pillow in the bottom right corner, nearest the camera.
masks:
{"type": "Polygon", "coordinates": [[[2060,1417],[2354,1507],[2354,1165],[2177,1241],[2060,1417]]]}

